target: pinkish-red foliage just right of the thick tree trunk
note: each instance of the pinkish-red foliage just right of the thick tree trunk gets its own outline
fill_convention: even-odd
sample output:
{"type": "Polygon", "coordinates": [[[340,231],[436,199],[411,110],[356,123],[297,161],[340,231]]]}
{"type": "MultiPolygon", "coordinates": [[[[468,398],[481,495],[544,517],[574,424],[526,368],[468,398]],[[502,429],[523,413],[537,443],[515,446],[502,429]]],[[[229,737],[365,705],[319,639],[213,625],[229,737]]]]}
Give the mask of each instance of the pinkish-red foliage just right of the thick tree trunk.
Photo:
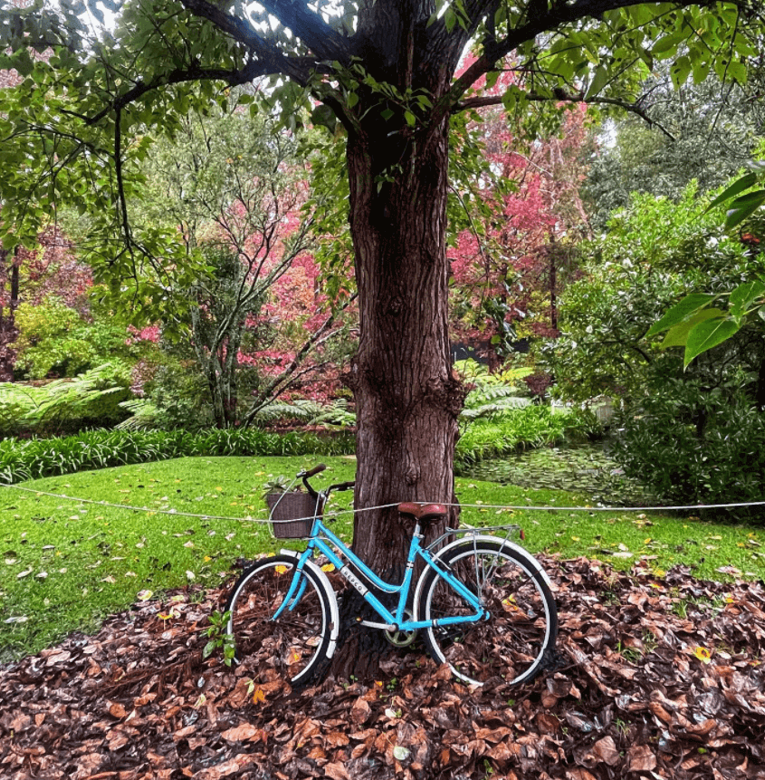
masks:
{"type": "MultiPolygon", "coordinates": [[[[468,59],[465,67],[471,63],[468,59]]],[[[483,93],[501,95],[515,81],[508,69],[483,93]]],[[[483,225],[486,236],[479,241],[466,230],[450,254],[461,299],[453,318],[458,338],[485,350],[498,333],[502,310],[505,323],[524,322],[530,335],[557,334],[555,299],[568,261],[566,240],[572,233],[589,233],[578,194],[585,175],[579,150],[587,142],[586,112],[585,105],[575,106],[563,118],[559,137],[534,140],[528,148],[515,138],[502,111],[484,119],[485,156],[514,191],[502,197],[484,191],[493,214],[483,225]],[[487,306],[489,301],[500,305],[487,306]]]]}

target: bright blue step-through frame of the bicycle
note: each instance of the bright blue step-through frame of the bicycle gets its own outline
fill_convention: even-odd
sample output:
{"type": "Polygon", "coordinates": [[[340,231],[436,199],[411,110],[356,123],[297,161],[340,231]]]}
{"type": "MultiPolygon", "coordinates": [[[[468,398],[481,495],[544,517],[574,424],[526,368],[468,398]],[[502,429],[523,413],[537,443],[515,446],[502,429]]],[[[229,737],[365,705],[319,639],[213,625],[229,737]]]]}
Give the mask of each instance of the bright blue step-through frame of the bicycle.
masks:
{"type": "MultiPolygon", "coordinates": [[[[326,497],[326,495],[321,496],[322,500],[319,506],[323,506],[326,497]]],[[[273,620],[276,620],[285,609],[292,611],[297,603],[300,602],[302,593],[305,590],[305,580],[301,576],[301,573],[306,562],[308,562],[317,551],[326,555],[327,559],[335,567],[338,573],[361,594],[364,601],[366,601],[369,606],[378,613],[380,618],[385,621],[383,623],[361,621],[362,625],[387,631],[416,631],[417,629],[424,629],[430,626],[473,623],[488,618],[488,613],[483,609],[483,605],[479,598],[469,588],[466,588],[464,583],[454,577],[452,573],[441,568],[438,563],[435,562],[435,558],[430,551],[421,546],[420,543],[422,538],[423,534],[420,533],[420,525],[416,524],[415,533],[412,535],[409,542],[409,552],[406,556],[406,573],[404,574],[404,579],[397,585],[387,583],[385,580],[378,577],[378,575],[374,573],[358,555],[354,554],[338,536],[333,534],[330,529],[323,524],[321,516],[317,514],[311,528],[311,538],[308,547],[300,554],[298,564],[295,567],[295,573],[292,576],[290,589],[287,592],[281,607],[274,613],[273,620]],[[414,563],[417,557],[421,558],[426,566],[433,569],[439,577],[445,580],[454,592],[464,598],[465,602],[473,609],[473,614],[454,615],[453,617],[438,618],[435,621],[414,621],[406,619],[406,602],[409,598],[409,591],[415,568],[414,563]],[[343,561],[343,558],[346,559],[346,562],[343,561]],[[387,607],[379,601],[378,597],[359,580],[359,577],[356,576],[355,572],[358,572],[368,583],[371,583],[372,586],[378,590],[391,594],[397,593],[398,602],[396,611],[389,611],[387,607]]]]}

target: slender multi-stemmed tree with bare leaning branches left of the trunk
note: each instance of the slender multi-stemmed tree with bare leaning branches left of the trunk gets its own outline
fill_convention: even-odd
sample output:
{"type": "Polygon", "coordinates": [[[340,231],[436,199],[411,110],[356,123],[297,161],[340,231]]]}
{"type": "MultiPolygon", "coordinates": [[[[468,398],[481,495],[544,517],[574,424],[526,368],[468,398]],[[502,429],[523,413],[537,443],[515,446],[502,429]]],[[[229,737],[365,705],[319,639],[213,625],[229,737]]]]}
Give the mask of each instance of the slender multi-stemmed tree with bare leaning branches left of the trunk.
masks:
{"type": "Polygon", "coordinates": [[[174,139],[158,142],[144,164],[134,233],[140,236],[142,225],[175,228],[186,255],[200,255],[191,286],[171,291],[177,314],[163,330],[173,327],[190,339],[219,428],[251,421],[306,375],[311,350],[339,332],[331,310],[343,301],[328,300],[302,273],[316,246],[310,228],[320,206],[315,199],[308,203],[310,169],[298,158],[307,142],[306,132],[285,132],[264,113],[212,107],[207,116],[184,117],[174,139]],[[300,303],[294,295],[290,300],[295,275],[301,277],[300,303]],[[274,296],[278,305],[269,310],[274,296]],[[309,327],[293,328],[297,343],[282,352],[283,370],[259,378],[258,352],[273,350],[279,323],[295,324],[296,306],[310,310],[302,318],[309,327]]]}

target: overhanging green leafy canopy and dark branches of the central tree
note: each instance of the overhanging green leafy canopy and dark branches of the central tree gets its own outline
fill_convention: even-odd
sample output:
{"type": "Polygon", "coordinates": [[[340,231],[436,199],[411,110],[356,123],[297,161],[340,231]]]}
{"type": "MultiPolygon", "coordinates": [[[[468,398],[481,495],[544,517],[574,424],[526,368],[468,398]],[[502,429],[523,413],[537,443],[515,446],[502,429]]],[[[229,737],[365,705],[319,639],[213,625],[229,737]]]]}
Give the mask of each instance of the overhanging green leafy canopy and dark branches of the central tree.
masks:
{"type": "MultiPolygon", "coordinates": [[[[287,77],[269,96],[288,124],[300,122],[298,109],[307,106],[314,121],[337,119],[352,133],[372,112],[403,141],[415,128],[487,104],[523,112],[562,99],[645,114],[640,84],[660,61],[669,63],[675,86],[711,72],[743,84],[747,60],[760,49],[755,0],[269,0],[256,7],[263,10],[206,0],[6,5],[0,65],[22,79],[17,97],[4,96],[2,135],[14,140],[0,159],[3,232],[14,236],[6,243],[33,235],[50,204],[67,191],[81,198],[87,183],[103,205],[120,205],[110,217],[124,219],[129,171],[120,161],[140,156],[145,130],[172,134],[190,101],[225,101],[221,85],[287,77]],[[96,34],[100,5],[117,13],[116,24],[96,34]],[[453,80],[468,44],[477,56],[453,80]],[[491,87],[508,67],[517,78],[501,93],[473,89],[487,74],[491,87]]],[[[387,165],[375,178],[381,184],[398,173],[387,165]]]]}

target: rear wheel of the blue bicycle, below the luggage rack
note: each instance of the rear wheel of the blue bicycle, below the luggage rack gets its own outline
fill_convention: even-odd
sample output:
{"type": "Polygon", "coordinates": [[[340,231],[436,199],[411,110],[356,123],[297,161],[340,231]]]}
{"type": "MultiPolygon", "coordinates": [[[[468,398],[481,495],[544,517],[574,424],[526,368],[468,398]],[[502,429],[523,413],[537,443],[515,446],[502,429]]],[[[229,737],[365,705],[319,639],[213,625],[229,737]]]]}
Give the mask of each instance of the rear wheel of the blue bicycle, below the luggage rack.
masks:
{"type": "MultiPolygon", "coordinates": [[[[531,555],[499,541],[465,540],[445,550],[436,563],[478,597],[488,616],[423,631],[433,659],[448,663],[470,684],[532,679],[555,645],[558,611],[531,555]]],[[[426,569],[417,592],[418,620],[475,613],[433,569],[426,569]]]]}

